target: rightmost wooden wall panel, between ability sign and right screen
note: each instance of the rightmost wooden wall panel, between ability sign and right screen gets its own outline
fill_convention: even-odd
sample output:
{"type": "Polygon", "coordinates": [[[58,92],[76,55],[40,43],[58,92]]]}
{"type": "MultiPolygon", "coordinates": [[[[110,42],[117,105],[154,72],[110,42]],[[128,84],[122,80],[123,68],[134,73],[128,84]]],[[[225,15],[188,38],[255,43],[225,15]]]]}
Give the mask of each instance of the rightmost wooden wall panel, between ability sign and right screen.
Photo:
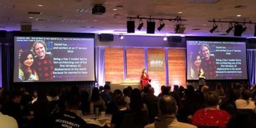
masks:
{"type": "Polygon", "coordinates": [[[185,49],[168,49],[169,84],[185,86],[185,49]]]}

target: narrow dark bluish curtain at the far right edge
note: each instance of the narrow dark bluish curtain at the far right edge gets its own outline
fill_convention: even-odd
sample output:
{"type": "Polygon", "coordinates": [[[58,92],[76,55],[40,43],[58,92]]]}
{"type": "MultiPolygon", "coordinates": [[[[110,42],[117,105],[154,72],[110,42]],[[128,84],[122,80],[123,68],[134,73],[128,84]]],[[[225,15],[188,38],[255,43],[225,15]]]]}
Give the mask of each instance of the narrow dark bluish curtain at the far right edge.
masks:
{"type": "Polygon", "coordinates": [[[247,67],[250,85],[256,83],[256,50],[247,49],[247,67]]]}

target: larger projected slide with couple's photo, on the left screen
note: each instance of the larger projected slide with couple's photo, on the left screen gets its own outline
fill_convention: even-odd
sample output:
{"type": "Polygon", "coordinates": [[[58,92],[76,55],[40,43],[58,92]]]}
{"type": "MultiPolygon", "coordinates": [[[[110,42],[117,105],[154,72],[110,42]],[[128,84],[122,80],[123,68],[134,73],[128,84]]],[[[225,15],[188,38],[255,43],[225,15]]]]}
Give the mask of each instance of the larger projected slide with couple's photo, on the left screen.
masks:
{"type": "Polygon", "coordinates": [[[14,82],[92,81],[94,38],[15,36],[14,82]]]}

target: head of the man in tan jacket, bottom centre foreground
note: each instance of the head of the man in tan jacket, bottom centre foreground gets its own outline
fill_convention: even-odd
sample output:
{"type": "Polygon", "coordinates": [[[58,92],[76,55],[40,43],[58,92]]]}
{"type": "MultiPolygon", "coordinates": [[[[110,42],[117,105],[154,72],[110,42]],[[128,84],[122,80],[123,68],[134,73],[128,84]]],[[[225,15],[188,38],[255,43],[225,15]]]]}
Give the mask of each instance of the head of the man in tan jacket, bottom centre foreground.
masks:
{"type": "Polygon", "coordinates": [[[160,115],[171,115],[177,112],[176,100],[169,95],[161,96],[158,100],[158,110],[160,115]]]}

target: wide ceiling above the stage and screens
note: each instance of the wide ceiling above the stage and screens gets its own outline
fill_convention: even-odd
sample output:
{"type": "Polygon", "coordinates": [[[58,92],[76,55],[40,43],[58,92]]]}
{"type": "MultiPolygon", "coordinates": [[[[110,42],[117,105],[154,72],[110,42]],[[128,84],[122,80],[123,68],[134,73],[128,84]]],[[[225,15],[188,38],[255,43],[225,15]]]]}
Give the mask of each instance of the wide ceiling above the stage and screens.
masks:
{"type": "MultiPolygon", "coordinates": [[[[184,34],[180,34],[183,36],[233,36],[233,31],[226,34],[229,23],[220,22],[216,22],[218,29],[211,34],[213,23],[208,20],[256,22],[255,0],[0,0],[0,9],[0,30],[8,31],[20,30],[21,23],[28,23],[32,24],[32,31],[127,34],[127,17],[139,15],[180,16],[187,20],[181,22],[186,27],[184,34]],[[106,7],[106,13],[92,15],[96,4],[106,7]]],[[[135,20],[133,35],[179,35],[174,33],[176,21],[164,20],[164,29],[156,29],[155,34],[146,34],[146,20],[143,22],[139,31],[139,20],[135,20]]],[[[159,20],[155,22],[157,28],[159,20]]],[[[242,36],[252,37],[254,24],[245,25],[247,30],[242,36]]]]}

